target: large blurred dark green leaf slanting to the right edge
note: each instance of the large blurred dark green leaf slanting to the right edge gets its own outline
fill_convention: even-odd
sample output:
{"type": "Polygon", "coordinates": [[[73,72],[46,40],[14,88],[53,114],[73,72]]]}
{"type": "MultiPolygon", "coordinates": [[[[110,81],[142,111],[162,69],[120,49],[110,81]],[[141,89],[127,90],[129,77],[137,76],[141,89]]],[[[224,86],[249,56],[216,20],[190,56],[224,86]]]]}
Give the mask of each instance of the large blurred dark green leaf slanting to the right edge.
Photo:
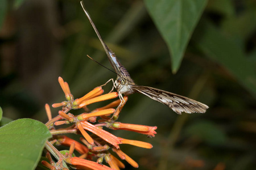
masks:
{"type": "Polygon", "coordinates": [[[241,46],[225,37],[206,20],[200,22],[193,36],[199,48],[214,61],[224,66],[240,84],[256,97],[256,71],[246,58],[241,46]]]}

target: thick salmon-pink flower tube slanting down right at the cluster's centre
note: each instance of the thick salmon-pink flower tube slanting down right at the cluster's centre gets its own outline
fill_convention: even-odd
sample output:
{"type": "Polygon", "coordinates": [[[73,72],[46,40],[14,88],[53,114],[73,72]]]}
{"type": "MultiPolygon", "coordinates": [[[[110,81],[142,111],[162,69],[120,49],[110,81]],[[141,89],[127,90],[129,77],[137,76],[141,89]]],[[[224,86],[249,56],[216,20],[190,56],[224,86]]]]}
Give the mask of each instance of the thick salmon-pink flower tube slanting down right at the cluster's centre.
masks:
{"type": "Polygon", "coordinates": [[[108,131],[105,131],[103,129],[98,128],[97,126],[94,126],[90,124],[87,121],[81,122],[82,128],[85,130],[88,130],[94,134],[96,134],[98,137],[102,138],[104,141],[110,143],[111,145],[115,146],[116,148],[119,148],[119,144],[121,144],[121,139],[116,137],[115,135],[109,133],[108,131]]]}

